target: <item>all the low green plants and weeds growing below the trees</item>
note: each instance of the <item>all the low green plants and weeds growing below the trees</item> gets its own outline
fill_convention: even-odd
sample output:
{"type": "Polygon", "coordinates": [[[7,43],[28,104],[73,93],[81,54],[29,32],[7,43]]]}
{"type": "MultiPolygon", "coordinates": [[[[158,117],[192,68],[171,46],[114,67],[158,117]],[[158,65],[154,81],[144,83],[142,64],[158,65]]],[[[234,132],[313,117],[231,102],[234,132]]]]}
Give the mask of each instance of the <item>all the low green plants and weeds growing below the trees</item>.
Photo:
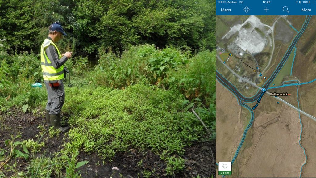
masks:
{"type": "MultiPolygon", "coordinates": [[[[38,58],[34,54],[8,56],[12,58],[3,60],[0,67],[10,69],[3,72],[6,76],[3,81],[9,83],[6,87],[10,89],[2,89],[1,111],[8,113],[14,107],[23,112],[44,110],[45,86],[31,87],[38,58]]],[[[179,156],[183,155],[185,146],[216,137],[214,63],[214,52],[191,55],[175,48],[159,50],[153,45],[131,47],[120,57],[100,52],[94,70],[86,68],[87,58],[67,61],[75,85],[65,88],[63,113],[69,116],[71,127],[66,133],[68,141],[53,158],[29,158],[28,150],[32,154],[43,151],[47,138],[58,137],[59,130],[45,131],[40,126],[37,141],[10,142],[15,150],[11,155],[30,162],[28,171],[19,174],[60,177],[63,175],[60,170],[65,168],[67,176],[78,177],[80,173],[76,169],[84,162],[76,163],[77,151],[96,153],[111,161],[118,152],[135,148],[164,155],[166,174],[174,176],[184,168],[184,160],[179,156]],[[166,67],[161,69],[161,66],[166,67]],[[193,105],[212,133],[211,138],[191,112],[193,105]],[[45,171],[46,168],[50,170],[45,171]]],[[[144,168],[142,175],[156,174],[144,168]]]]}

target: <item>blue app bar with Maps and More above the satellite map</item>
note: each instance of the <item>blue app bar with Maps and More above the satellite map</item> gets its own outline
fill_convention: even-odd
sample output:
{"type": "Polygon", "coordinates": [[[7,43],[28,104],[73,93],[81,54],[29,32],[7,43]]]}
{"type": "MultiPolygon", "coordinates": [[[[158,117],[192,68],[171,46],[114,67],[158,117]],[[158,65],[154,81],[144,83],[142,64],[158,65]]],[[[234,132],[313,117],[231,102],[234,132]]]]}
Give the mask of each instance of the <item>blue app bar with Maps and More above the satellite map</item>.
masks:
{"type": "Polygon", "coordinates": [[[217,1],[216,15],[316,15],[314,1],[217,1]]]}

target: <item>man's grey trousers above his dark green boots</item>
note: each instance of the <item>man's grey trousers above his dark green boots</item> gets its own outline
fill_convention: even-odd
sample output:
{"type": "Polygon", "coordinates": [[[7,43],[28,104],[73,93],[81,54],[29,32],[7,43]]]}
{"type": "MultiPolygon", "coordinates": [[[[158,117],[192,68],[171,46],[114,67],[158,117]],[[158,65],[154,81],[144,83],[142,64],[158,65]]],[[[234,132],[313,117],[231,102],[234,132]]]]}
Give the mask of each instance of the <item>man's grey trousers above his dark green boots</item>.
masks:
{"type": "Polygon", "coordinates": [[[65,102],[65,88],[63,80],[58,80],[60,86],[51,87],[48,82],[45,81],[47,89],[47,104],[46,110],[49,111],[49,114],[58,114],[61,111],[61,108],[65,102]]]}

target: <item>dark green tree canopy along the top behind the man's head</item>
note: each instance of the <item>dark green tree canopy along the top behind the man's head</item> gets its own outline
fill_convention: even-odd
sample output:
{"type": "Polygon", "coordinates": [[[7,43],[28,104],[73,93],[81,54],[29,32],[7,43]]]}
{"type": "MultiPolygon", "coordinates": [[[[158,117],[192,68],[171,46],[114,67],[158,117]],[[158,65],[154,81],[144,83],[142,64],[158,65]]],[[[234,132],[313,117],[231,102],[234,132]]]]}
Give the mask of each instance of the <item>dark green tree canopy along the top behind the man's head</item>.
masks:
{"type": "Polygon", "coordinates": [[[0,8],[0,39],[11,52],[38,52],[55,21],[68,35],[62,48],[81,55],[144,43],[191,51],[215,46],[210,0],[4,0],[0,8]]]}

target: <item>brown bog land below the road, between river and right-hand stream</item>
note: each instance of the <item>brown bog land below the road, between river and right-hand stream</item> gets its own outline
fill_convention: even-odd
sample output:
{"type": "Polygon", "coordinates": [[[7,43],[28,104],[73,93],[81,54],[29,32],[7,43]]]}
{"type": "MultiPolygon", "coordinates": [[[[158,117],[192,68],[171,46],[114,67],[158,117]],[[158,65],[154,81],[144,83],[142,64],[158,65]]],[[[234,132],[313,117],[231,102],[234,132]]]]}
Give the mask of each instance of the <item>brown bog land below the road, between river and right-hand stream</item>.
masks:
{"type": "MultiPolygon", "coordinates": [[[[263,98],[265,103],[269,100],[275,102],[272,97],[263,98]]],[[[301,132],[298,112],[281,103],[271,107],[277,107],[278,112],[265,111],[256,115],[252,135],[248,137],[250,140],[245,141],[252,144],[246,148],[243,146],[236,159],[237,177],[299,176],[305,156],[298,144],[301,132]]],[[[264,107],[259,107],[259,110],[264,110],[264,107]]]]}

